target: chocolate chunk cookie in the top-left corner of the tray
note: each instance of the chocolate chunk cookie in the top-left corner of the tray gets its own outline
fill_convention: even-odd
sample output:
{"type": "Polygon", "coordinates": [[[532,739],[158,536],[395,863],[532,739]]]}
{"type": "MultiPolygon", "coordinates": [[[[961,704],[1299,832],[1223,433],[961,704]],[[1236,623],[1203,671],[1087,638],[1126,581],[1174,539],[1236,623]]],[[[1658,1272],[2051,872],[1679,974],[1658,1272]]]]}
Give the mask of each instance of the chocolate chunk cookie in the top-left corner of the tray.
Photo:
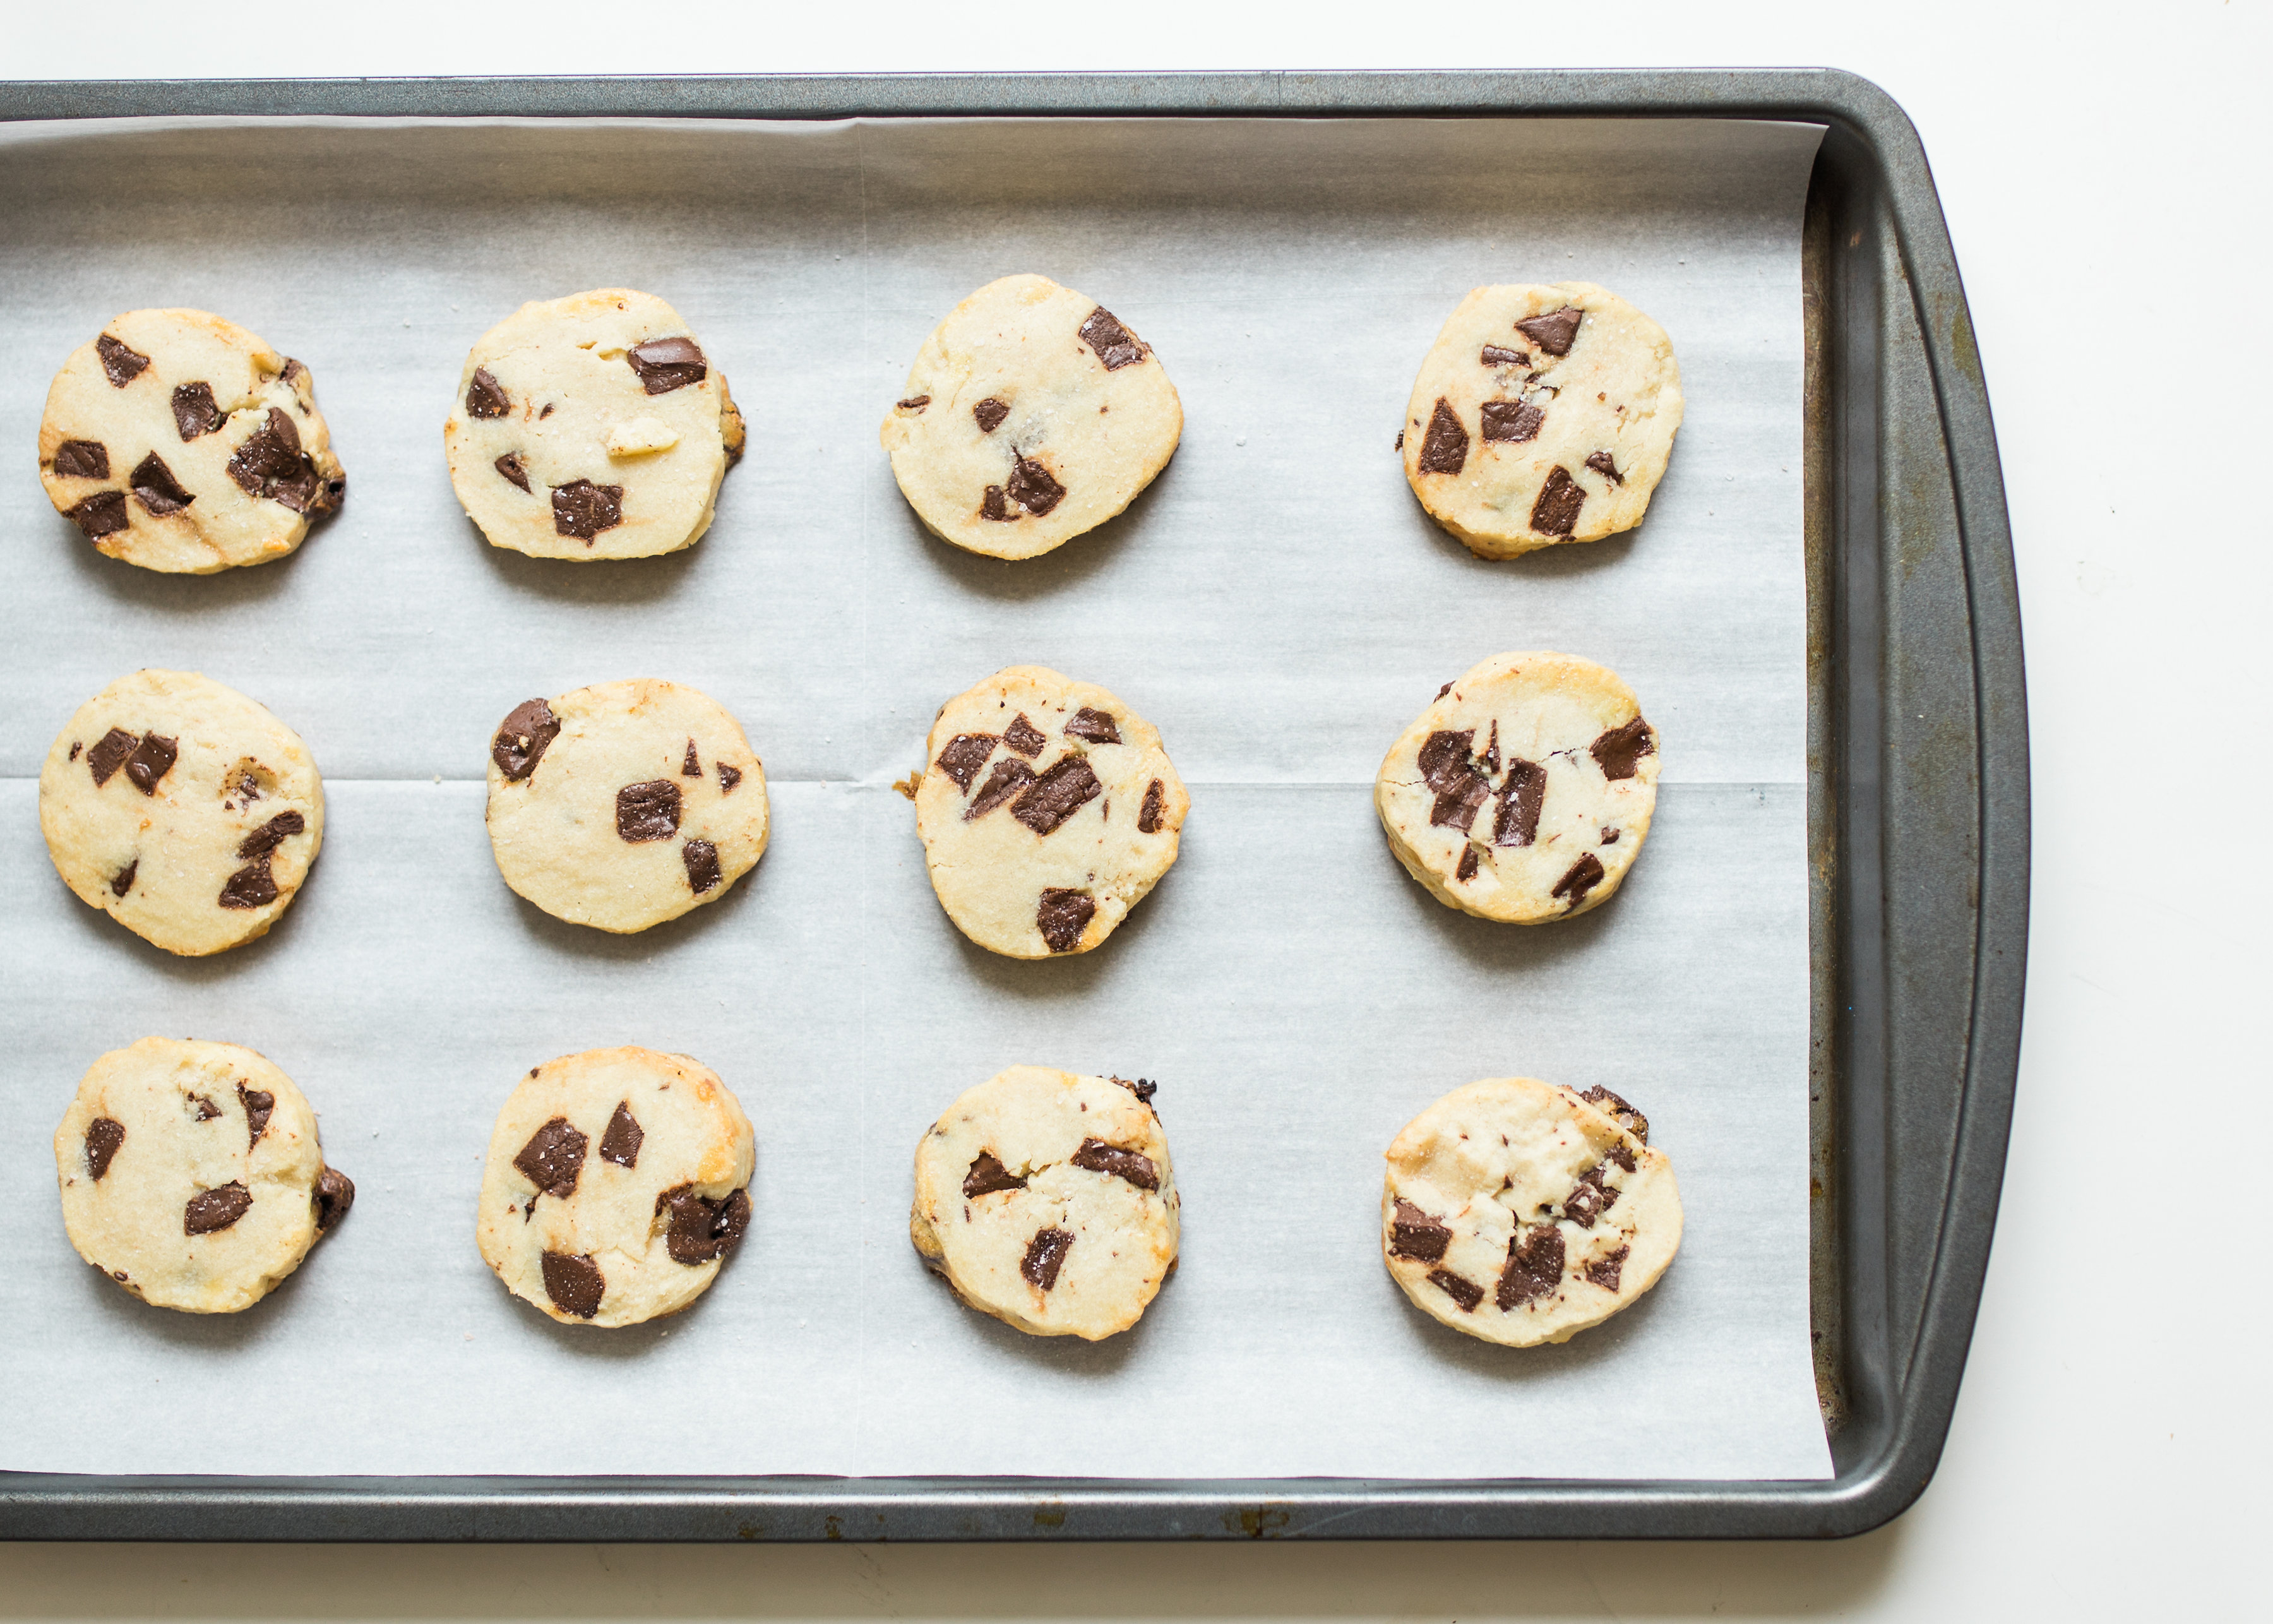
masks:
{"type": "Polygon", "coordinates": [[[73,350],[39,480],[98,553],[177,575],[284,557],[348,494],[307,368],[202,309],[130,309],[73,350]]]}

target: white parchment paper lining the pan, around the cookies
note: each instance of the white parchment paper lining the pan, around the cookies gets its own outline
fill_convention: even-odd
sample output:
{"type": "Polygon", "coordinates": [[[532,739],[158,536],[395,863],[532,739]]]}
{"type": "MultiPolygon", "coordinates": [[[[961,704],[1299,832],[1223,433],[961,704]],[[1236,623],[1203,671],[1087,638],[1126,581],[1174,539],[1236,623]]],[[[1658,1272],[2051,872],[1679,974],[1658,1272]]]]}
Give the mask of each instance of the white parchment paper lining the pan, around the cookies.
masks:
{"type": "MultiPolygon", "coordinates": [[[[0,134],[0,444],[118,309],[220,309],[305,359],[350,471],[293,560],[168,580],[0,491],[0,1465],[68,1472],[802,1472],[1816,1478],[1807,1356],[1798,221],[1814,127],[1527,121],[164,125],[0,134]],[[1105,532],[998,564],[923,535],[875,425],[939,316],[1039,268],[1139,330],[1184,444],[1105,532]],[[1689,416],[1632,537],[1475,562],[1391,437],[1457,298],[1605,282],[1689,416]],[[439,428],[525,298],[673,300],[750,419],[691,553],[564,566],[459,514],[439,428]],[[1502,648],[1616,666],[1664,735],[1650,851],[1514,930],[1405,878],[1380,753],[1502,648]],[[1159,726],[1184,855],[1111,944],[1021,964],[930,898],[932,710],[1041,662],[1159,726]],[[139,664],[266,701],[323,764],[325,855],[264,942],[173,960],[75,903],[36,832],[55,728],[139,664]],[[486,737],[618,676],[721,698],[773,848],[641,937],[496,878],[486,737]],[[70,1251],[48,1137],[145,1033],[261,1049],[359,1203],[230,1319],[70,1251]],[[757,1217],[698,1308],[621,1333],[511,1301],[473,1249],[530,1064],[689,1051],[759,1133],[757,1217]],[[1152,1076],[1182,1267],[1107,1344],[959,1308],[905,1240],[930,1119],[1011,1062],[1152,1076]],[[1441,1331],[1389,1283],[1380,1151],[1477,1076],[1605,1083],[1689,1215],[1666,1281],[1562,1349],[1441,1331]],[[100,1417],[100,1424],[91,1424],[100,1417]]],[[[25,453],[25,464],[30,453],[25,453]]]]}

